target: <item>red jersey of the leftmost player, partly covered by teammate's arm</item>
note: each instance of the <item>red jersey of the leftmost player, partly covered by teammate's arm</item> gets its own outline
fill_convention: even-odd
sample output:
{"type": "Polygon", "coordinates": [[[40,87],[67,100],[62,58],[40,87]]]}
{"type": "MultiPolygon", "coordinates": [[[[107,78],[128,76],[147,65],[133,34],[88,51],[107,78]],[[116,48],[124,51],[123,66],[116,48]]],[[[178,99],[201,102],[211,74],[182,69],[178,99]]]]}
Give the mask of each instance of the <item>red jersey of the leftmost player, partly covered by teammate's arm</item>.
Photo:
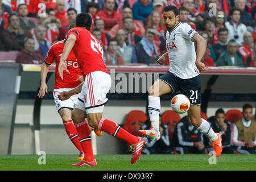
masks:
{"type": "Polygon", "coordinates": [[[80,81],[76,81],[77,76],[82,75],[82,73],[73,51],[69,53],[68,58],[66,60],[67,68],[70,74],[64,71],[63,80],[61,80],[61,78],[59,77],[58,67],[59,67],[60,57],[62,55],[64,46],[65,46],[65,40],[60,40],[52,44],[51,48],[47,53],[46,60],[44,61],[46,64],[52,64],[53,60],[55,60],[56,69],[55,69],[54,89],[75,88],[81,83],[80,81]]]}

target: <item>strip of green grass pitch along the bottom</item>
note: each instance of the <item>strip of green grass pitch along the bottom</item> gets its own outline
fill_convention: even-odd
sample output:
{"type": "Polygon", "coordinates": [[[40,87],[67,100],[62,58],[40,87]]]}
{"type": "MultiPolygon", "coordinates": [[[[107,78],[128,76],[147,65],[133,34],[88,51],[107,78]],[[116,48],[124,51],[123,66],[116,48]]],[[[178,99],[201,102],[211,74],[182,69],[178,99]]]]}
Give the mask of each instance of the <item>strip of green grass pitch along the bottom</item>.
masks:
{"type": "Polygon", "coordinates": [[[72,167],[77,155],[46,155],[46,165],[38,155],[0,155],[0,171],[255,171],[256,155],[222,154],[210,165],[212,155],[142,155],[131,164],[131,155],[96,155],[97,167],[72,167]]]}

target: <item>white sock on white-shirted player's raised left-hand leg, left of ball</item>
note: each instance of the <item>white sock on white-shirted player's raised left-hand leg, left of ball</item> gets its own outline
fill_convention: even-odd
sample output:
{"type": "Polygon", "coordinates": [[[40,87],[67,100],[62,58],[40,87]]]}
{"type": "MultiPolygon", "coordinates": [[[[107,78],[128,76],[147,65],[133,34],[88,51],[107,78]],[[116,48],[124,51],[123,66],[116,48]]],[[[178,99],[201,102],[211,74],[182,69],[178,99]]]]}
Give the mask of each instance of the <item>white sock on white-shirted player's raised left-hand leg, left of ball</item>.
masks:
{"type": "Polygon", "coordinates": [[[148,96],[148,114],[151,126],[159,132],[160,97],[148,96]]]}

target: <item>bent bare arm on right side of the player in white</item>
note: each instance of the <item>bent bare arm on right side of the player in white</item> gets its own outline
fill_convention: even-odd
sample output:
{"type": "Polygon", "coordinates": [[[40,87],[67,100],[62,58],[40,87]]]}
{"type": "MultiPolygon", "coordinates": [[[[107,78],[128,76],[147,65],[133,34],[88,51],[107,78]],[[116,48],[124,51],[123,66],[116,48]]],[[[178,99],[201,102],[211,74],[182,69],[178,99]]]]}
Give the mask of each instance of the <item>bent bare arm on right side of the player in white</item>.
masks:
{"type": "Polygon", "coordinates": [[[208,67],[201,62],[206,52],[207,42],[199,34],[194,35],[192,41],[196,43],[196,67],[199,71],[207,71],[208,67]]]}

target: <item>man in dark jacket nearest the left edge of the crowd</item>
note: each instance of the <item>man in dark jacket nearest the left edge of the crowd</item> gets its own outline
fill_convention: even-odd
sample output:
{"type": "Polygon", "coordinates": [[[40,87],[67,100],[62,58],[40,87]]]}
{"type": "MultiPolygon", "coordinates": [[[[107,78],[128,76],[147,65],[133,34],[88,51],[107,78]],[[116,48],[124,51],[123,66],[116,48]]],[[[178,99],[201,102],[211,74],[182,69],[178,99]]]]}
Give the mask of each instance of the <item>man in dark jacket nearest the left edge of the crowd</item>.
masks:
{"type": "Polygon", "coordinates": [[[1,33],[5,51],[20,51],[24,45],[24,39],[28,35],[19,26],[19,16],[11,14],[8,18],[9,26],[1,33]]]}

